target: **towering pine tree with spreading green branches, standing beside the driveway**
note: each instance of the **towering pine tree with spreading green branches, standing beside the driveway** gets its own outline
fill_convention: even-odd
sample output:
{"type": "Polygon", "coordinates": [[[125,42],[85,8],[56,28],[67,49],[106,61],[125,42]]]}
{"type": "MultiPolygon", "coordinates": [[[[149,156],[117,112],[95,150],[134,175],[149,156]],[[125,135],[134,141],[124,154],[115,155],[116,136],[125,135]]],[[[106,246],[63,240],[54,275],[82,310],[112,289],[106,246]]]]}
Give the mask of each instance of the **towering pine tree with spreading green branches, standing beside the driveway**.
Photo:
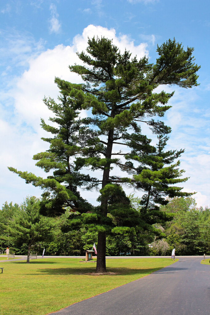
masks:
{"type": "MultiPolygon", "coordinates": [[[[179,170],[175,171],[175,167],[179,165],[169,166],[167,174],[161,171],[164,157],[160,155],[154,158],[152,153],[155,153],[156,149],[150,145],[147,136],[142,135],[141,125],[146,123],[157,135],[166,135],[170,132],[170,128],[155,117],[163,117],[171,107],[166,104],[173,93],[164,91],[157,93],[154,89],[166,84],[184,88],[196,86],[198,78],[196,72],[199,66],[195,65],[192,52],[193,48],[188,47],[184,50],[175,39],[168,40],[157,47],[159,57],[156,63],[149,64],[146,57],[139,61],[136,57],[131,59],[131,54],[127,50],[121,54],[109,39],[104,37],[88,39],[88,54],[77,53],[85,65],[70,66],[72,72],[81,75],[84,83],[73,84],[56,78],[55,82],[61,92],[61,104],[56,104],[52,99],[44,100],[56,114],[57,118],[51,120],[57,123],[59,128],[50,127],[42,122],[42,127],[52,132],[54,138],[44,139],[50,142],[50,149],[37,154],[34,159],[39,160],[37,166],[44,168],[46,172],[55,169],[54,175],[42,179],[31,173],[9,168],[27,183],[41,186],[47,191],[42,203],[43,212],[60,213],[65,205],[69,205],[77,211],[72,214],[72,226],[82,222],[98,231],[96,266],[98,272],[106,271],[106,233],[116,226],[113,217],[121,218],[121,228],[138,226],[141,221],[139,212],[131,208],[122,185],[145,189],[149,196],[148,202],[143,205],[145,209],[148,208],[152,196],[151,189],[148,190],[149,186],[156,186],[156,192],[158,191],[158,198],[153,194],[154,202],[161,199],[160,193],[163,191],[165,196],[172,191],[174,195],[180,192],[179,187],[171,188],[171,184],[177,183],[179,180],[175,179],[182,173],[179,170]],[[64,121],[66,103],[72,116],[64,121]],[[57,108],[60,108],[60,111],[57,108]],[[77,111],[82,109],[91,109],[92,115],[80,120],[77,111]],[[117,149],[119,146],[120,150],[117,149]],[[122,147],[128,151],[124,152],[122,147]],[[121,156],[127,158],[127,163],[120,160],[121,156]],[[148,169],[143,167],[136,170],[131,160],[138,162],[139,159],[143,165],[144,158],[147,158],[145,165],[149,165],[148,169]],[[154,169],[155,164],[157,169],[154,169]],[[93,171],[101,170],[102,179],[82,175],[80,171],[83,167],[91,167],[93,171]],[[116,167],[127,172],[126,177],[116,175],[116,167]],[[114,172],[111,172],[113,168],[114,172]],[[170,174],[170,168],[173,176],[170,174]],[[133,170],[136,170],[135,174],[133,170]],[[157,187],[156,180],[148,177],[150,171],[153,175],[155,171],[158,172],[156,175],[160,179],[165,178],[166,185],[157,187]],[[145,183],[143,173],[148,183],[145,183]],[[92,207],[83,200],[78,193],[78,186],[88,189],[99,186],[100,206],[92,207]],[[107,216],[108,213],[111,215],[107,216]]],[[[153,191],[155,192],[154,189],[153,191]]]]}

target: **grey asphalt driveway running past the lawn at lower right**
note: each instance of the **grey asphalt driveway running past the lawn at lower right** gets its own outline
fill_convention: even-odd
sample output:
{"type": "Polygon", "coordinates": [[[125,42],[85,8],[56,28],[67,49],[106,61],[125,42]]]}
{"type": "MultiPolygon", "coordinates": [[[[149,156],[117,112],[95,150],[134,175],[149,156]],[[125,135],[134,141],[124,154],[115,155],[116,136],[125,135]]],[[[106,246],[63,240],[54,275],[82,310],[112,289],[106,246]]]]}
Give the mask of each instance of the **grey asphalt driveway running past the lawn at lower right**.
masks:
{"type": "Polygon", "coordinates": [[[209,315],[210,266],[200,262],[201,257],[180,257],[173,265],[147,277],[53,314],[209,315]]]}

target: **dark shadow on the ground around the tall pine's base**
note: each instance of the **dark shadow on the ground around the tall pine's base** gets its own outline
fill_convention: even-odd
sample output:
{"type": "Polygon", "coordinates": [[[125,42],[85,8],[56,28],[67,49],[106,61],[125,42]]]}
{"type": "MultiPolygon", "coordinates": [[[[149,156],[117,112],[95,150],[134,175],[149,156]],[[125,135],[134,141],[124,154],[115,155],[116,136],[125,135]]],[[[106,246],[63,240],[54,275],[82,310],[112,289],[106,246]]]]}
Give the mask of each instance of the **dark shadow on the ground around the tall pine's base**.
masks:
{"type": "MultiPolygon", "coordinates": [[[[125,267],[119,267],[119,268],[107,268],[107,273],[96,273],[95,268],[46,268],[46,269],[39,269],[39,274],[45,274],[45,275],[84,275],[84,276],[131,276],[131,275],[147,275],[152,272],[161,272],[161,273],[174,273],[176,270],[185,270],[188,268],[169,268],[167,271],[165,268],[148,268],[148,269],[131,269],[131,268],[125,268],[125,267]]],[[[30,274],[32,275],[32,274],[30,274]]],[[[33,274],[33,275],[37,275],[33,274]]]]}

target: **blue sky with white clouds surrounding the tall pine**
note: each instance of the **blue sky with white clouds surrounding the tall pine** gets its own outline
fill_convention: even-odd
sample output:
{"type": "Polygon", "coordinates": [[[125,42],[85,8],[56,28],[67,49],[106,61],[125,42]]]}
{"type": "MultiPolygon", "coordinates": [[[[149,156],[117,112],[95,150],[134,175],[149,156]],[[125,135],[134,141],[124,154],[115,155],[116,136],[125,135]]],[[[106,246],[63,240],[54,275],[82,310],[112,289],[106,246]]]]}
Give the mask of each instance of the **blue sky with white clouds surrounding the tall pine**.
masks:
{"type": "MultiPolygon", "coordinates": [[[[139,58],[146,54],[150,62],[156,60],[156,45],[168,38],[195,48],[200,86],[166,87],[175,95],[164,121],[172,127],[168,148],[185,148],[181,168],[190,179],[184,190],[197,192],[198,206],[210,205],[209,11],[207,0],[1,0],[0,206],[6,200],[20,203],[28,194],[40,196],[39,188],[26,185],[7,166],[46,176],[32,160],[48,148],[40,140],[40,117],[50,115],[42,98],[56,98],[55,76],[81,82],[68,65],[79,62],[76,51],[94,35],[113,38],[121,50],[126,47],[139,58]]],[[[91,202],[96,199],[95,193],[84,194],[91,202]]]]}

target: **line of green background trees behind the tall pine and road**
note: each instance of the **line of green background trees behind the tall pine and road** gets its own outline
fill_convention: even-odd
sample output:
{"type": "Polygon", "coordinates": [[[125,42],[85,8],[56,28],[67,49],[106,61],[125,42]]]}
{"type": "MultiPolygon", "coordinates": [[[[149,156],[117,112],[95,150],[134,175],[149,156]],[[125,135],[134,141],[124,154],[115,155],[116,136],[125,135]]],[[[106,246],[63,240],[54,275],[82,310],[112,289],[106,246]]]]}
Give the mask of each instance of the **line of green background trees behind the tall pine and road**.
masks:
{"type": "MultiPolygon", "coordinates": [[[[128,197],[140,212],[141,199],[128,197]]],[[[5,202],[0,211],[0,250],[9,247],[16,255],[27,255],[28,250],[42,255],[45,248],[45,255],[77,256],[84,255],[84,249],[91,249],[93,243],[97,246],[97,231],[85,226],[69,230],[70,208],[60,216],[47,218],[39,214],[39,204],[35,197],[26,197],[20,205],[5,202]]],[[[161,210],[169,217],[162,225],[157,220],[147,230],[119,229],[109,234],[106,255],[171,255],[173,248],[176,255],[210,254],[209,208],[197,208],[192,197],[175,197],[161,210]]]]}

